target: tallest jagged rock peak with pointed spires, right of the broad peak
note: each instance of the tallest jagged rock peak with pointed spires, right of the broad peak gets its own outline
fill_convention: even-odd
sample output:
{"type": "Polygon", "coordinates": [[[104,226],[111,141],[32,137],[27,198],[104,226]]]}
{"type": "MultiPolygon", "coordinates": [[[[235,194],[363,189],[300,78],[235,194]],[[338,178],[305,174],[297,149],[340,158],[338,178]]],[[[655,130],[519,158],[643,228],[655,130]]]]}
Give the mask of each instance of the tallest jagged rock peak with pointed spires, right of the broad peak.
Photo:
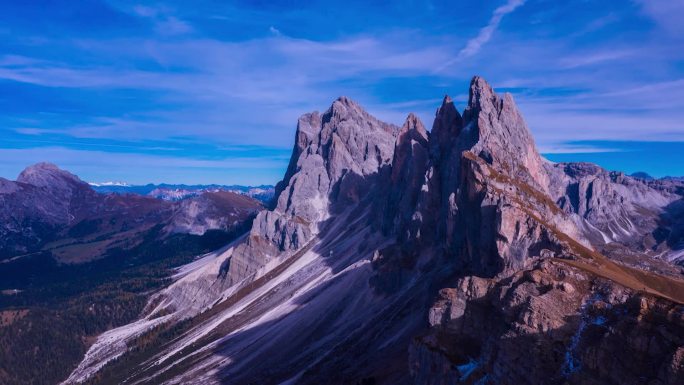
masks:
{"type": "MultiPolygon", "coordinates": [[[[545,162],[510,95],[499,97],[476,77],[463,117],[446,97],[433,127],[427,161],[423,156],[408,166],[393,164],[393,176],[406,169],[424,173],[418,183],[390,181],[390,191],[420,196],[412,206],[394,207],[400,210],[393,220],[422,222],[422,231],[407,240],[419,248],[441,248],[461,269],[485,276],[517,271],[542,249],[560,251],[535,215],[587,244],[577,218],[564,215],[548,196],[545,162]]],[[[395,160],[410,153],[404,147],[421,154],[428,148],[427,138],[422,146],[403,142],[400,137],[397,148],[403,151],[395,160]]]]}

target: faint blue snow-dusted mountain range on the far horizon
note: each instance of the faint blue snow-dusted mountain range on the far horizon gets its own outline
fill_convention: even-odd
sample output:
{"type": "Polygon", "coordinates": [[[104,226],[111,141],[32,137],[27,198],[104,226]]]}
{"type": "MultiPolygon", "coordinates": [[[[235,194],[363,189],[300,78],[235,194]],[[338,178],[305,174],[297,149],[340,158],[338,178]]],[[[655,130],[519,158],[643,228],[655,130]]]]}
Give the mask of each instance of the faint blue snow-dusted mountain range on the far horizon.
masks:
{"type": "Polygon", "coordinates": [[[186,184],[146,184],[129,185],[124,182],[90,183],[91,187],[103,194],[138,194],[159,199],[177,201],[200,195],[203,192],[227,191],[252,197],[264,204],[273,199],[274,188],[271,185],[241,186],[241,185],[186,185],[186,184]]]}

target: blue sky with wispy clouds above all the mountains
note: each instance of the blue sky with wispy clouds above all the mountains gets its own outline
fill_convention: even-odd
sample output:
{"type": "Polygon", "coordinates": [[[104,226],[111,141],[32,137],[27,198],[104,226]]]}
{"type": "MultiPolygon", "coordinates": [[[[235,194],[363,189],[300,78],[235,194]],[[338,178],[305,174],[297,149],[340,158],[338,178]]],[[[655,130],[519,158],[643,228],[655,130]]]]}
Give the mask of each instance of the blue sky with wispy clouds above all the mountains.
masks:
{"type": "Polygon", "coordinates": [[[430,126],[475,75],[554,161],[684,175],[684,2],[4,1],[0,176],[275,183],[349,96],[430,126]],[[374,4],[370,4],[374,3],[374,4]]]}

